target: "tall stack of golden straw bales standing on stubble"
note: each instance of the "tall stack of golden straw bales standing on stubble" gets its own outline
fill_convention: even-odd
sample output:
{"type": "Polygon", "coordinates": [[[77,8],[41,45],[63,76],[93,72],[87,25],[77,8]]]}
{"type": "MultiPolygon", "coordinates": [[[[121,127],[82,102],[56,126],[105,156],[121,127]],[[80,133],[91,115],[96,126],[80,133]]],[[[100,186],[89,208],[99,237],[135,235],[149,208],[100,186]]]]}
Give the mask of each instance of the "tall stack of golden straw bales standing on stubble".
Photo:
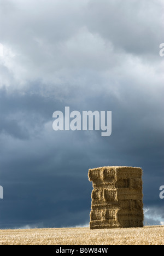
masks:
{"type": "Polygon", "coordinates": [[[92,181],[90,229],[143,227],[142,169],[100,167],[92,181]]]}

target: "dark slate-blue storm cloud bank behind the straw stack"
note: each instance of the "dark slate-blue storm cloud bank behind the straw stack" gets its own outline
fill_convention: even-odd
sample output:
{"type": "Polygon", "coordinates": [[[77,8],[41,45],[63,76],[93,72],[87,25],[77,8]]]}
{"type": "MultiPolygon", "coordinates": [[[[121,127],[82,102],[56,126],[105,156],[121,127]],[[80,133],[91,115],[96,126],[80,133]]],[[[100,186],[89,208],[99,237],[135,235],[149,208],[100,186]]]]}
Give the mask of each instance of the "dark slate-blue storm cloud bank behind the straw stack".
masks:
{"type": "MultiPolygon", "coordinates": [[[[103,96],[95,97],[94,101],[88,98],[83,102],[87,109],[113,110],[113,133],[104,139],[95,131],[89,134],[83,131],[52,131],[52,112],[64,108],[61,103],[55,106],[54,97],[44,99],[38,94],[32,97],[27,94],[22,100],[16,92],[9,96],[2,90],[2,94],[4,102],[8,100],[7,106],[9,102],[13,106],[12,109],[4,108],[3,115],[5,109],[6,114],[10,110],[12,116],[21,108],[26,117],[25,124],[31,130],[38,127],[38,134],[28,139],[19,137],[19,140],[17,136],[11,139],[1,134],[2,147],[4,143],[1,150],[1,183],[6,191],[1,204],[1,228],[87,223],[92,190],[87,180],[87,170],[102,165],[143,167],[145,206],[162,207],[159,199],[163,177],[162,133],[159,125],[154,127],[154,131],[149,127],[152,118],[159,124],[155,113],[153,117],[148,114],[147,122],[144,122],[147,112],[142,114],[142,104],[134,112],[133,108],[127,109],[127,104],[112,98],[110,102],[103,96]],[[32,102],[35,102],[34,105],[32,102]],[[38,121],[38,114],[44,120],[42,123],[38,121]],[[34,125],[31,125],[33,121],[34,125]],[[46,123],[47,128],[44,126],[46,123]],[[10,211],[10,208],[13,210],[10,211]]],[[[83,104],[78,104],[76,109],[82,111],[83,104]]],[[[75,106],[71,106],[71,109],[75,109],[75,106]]],[[[159,220],[156,222],[160,223],[159,220]]]]}

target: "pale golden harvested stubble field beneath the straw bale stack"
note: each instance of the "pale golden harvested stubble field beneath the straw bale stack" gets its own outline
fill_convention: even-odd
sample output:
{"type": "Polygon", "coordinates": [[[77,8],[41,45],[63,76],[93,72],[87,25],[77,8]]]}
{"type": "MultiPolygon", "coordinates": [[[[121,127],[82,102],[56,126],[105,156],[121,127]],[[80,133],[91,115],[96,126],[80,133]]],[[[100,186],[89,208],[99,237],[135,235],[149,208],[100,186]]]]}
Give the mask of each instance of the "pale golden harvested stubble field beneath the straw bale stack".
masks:
{"type": "Polygon", "coordinates": [[[164,226],[0,230],[0,245],[164,245],[164,226]]]}

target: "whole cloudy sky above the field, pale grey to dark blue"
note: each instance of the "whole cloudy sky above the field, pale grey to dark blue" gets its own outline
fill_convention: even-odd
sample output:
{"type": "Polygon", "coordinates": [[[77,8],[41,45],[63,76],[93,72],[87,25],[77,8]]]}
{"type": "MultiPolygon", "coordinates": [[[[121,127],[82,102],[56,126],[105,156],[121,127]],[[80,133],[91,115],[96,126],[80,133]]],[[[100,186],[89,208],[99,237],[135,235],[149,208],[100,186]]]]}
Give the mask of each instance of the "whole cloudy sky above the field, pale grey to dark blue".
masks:
{"type": "Polygon", "coordinates": [[[145,220],[164,223],[163,8],[0,0],[1,229],[88,226],[99,166],[143,168],[145,220]],[[112,111],[112,135],[54,131],[66,106],[112,111]]]}

